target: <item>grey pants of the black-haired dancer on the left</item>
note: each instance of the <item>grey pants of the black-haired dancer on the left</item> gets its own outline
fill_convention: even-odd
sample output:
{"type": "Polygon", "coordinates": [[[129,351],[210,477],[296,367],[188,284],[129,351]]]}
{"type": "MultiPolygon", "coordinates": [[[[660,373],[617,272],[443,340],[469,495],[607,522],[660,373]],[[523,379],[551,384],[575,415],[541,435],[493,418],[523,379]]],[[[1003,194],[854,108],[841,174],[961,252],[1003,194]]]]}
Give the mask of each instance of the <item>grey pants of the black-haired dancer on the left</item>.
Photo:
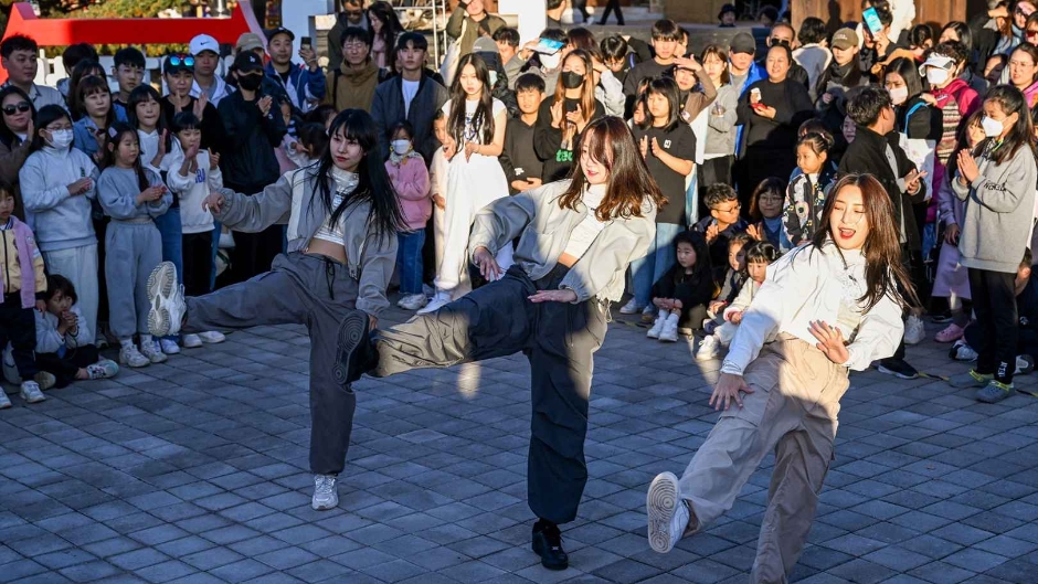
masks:
{"type": "Polygon", "coordinates": [[[188,305],[183,332],[306,325],[310,335],[310,470],[338,475],[353,428],[357,396],[336,381],[339,325],[357,304],[347,266],[317,255],[274,258],[271,272],[221,288],[188,305]]]}

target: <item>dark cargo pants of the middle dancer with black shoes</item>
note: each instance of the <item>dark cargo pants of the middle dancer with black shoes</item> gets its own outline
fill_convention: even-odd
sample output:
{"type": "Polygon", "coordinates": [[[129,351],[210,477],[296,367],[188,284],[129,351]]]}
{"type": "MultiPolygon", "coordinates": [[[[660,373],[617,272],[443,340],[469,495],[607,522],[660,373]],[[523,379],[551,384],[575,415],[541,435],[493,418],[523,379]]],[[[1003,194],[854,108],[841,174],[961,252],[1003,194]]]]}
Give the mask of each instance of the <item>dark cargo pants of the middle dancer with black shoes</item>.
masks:
{"type": "Polygon", "coordinates": [[[436,312],[379,332],[379,367],[372,372],[381,378],[522,351],[532,372],[529,505],[537,517],[553,523],[576,518],[587,482],[584,437],[593,355],[606,331],[606,308],[596,300],[528,299],[537,290],[557,289],[566,272],[560,265],[533,282],[512,266],[500,280],[436,312]]]}

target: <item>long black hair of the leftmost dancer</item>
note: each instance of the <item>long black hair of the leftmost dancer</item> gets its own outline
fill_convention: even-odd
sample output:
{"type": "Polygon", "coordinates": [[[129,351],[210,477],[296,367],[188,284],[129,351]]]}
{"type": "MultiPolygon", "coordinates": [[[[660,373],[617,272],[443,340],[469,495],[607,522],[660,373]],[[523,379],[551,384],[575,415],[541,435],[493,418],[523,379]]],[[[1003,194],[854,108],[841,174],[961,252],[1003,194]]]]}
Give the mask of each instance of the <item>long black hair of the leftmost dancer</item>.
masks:
{"type": "MultiPolygon", "coordinates": [[[[385,166],[378,156],[372,152],[379,152],[379,129],[372,119],[371,114],[363,109],[343,109],[331,120],[331,127],[328,128],[328,136],[336,135],[351,141],[356,141],[364,151],[364,158],[357,167],[357,174],[360,182],[357,189],[348,197],[343,198],[338,206],[332,206],[335,202],[335,192],[332,185],[332,170],[335,159],[332,158],[332,148],[325,149],[314,172],[317,179],[317,192],[314,194],[320,199],[321,206],[331,215],[329,223],[335,225],[339,222],[350,206],[368,203],[371,210],[368,212],[368,226],[374,227],[379,241],[388,241],[395,237],[396,232],[404,229],[403,212],[400,209],[400,202],[396,197],[396,190],[385,172],[385,166]]],[[[314,167],[308,167],[314,168],[314,167]]]]}

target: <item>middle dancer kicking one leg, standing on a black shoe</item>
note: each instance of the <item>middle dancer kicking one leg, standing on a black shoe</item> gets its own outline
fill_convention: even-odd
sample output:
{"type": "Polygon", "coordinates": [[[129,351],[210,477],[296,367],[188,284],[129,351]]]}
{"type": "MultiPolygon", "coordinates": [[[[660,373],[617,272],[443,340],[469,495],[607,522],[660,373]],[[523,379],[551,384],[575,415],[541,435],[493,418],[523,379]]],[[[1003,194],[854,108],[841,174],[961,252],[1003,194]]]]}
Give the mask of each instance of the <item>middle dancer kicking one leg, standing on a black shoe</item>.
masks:
{"type": "MultiPolygon", "coordinates": [[[[627,126],[591,123],[570,179],[490,203],[476,215],[472,261],[490,284],[375,340],[375,376],[527,354],[533,417],[527,488],[533,551],[568,565],[559,523],[576,518],[587,466],[584,435],[593,354],[605,337],[631,261],[653,241],[663,200],[627,126]],[[494,254],[519,237],[501,275],[494,254]]],[[[447,203],[449,204],[449,202],[447,203]]]]}

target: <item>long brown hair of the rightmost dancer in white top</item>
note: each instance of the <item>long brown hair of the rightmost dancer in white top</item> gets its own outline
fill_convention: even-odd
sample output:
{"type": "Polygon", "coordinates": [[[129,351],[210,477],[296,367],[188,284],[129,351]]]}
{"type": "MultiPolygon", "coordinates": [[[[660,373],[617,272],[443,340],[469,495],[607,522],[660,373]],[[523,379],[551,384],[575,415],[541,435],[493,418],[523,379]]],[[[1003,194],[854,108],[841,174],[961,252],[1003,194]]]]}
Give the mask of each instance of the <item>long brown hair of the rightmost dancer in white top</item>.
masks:
{"type": "MultiPolygon", "coordinates": [[[[865,311],[869,311],[889,295],[904,308],[919,306],[915,288],[901,262],[901,238],[893,221],[893,203],[883,185],[871,174],[847,174],[836,182],[825,200],[818,230],[811,238],[813,247],[822,249],[826,240],[835,240],[830,217],[837,195],[845,187],[857,187],[861,190],[865,219],[869,222],[869,235],[861,246],[861,255],[865,256],[866,291],[858,298],[858,302],[865,305],[865,311]]],[[[837,251],[843,257],[839,246],[837,251]]]]}

